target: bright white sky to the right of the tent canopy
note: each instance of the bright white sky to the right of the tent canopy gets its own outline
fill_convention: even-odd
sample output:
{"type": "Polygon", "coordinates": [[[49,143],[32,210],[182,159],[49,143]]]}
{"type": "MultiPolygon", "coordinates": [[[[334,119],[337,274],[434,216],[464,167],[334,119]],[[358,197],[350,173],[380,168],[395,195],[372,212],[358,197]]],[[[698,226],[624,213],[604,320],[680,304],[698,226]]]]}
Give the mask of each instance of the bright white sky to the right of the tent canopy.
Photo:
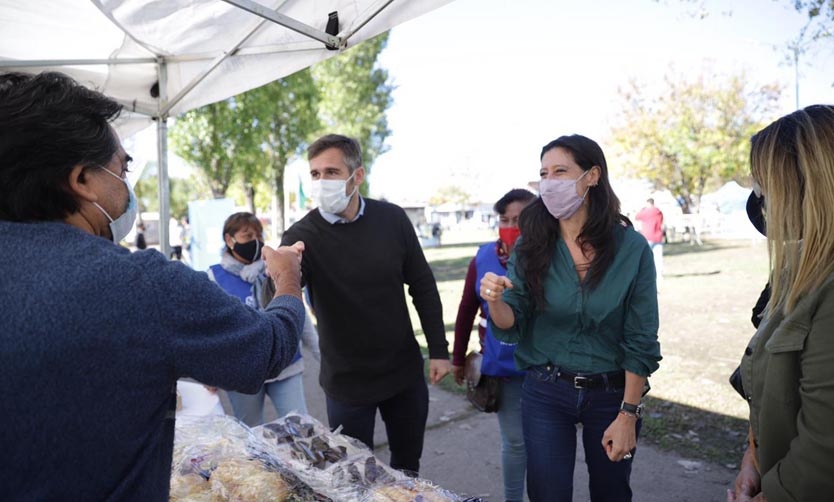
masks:
{"type": "MultiPolygon", "coordinates": [[[[456,0],[392,30],[381,55],[397,88],[371,194],[425,200],[455,185],[491,201],[535,179],[541,146],[570,133],[614,166],[619,89],[636,78],[662,95],[670,71],[744,71],[751,87],[782,85],[774,112],[788,113],[786,46],[806,19],[790,1],[456,0]]],[[[800,58],[800,106],[834,102],[832,82],[829,41],[800,58]]]]}

